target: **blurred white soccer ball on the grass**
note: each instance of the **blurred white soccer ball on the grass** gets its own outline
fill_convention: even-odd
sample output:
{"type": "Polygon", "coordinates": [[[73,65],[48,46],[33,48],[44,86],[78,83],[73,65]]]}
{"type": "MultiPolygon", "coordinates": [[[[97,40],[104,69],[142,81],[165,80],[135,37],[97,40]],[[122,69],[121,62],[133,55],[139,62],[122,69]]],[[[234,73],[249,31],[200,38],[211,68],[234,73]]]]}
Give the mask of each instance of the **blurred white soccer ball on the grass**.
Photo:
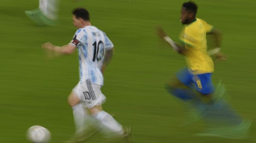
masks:
{"type": "Polygon", "coordinates": [[[34,125],[27,129],[27,139],[34,143],[47,143],[50,138],[50,131],[40,125],[34,125]]]}

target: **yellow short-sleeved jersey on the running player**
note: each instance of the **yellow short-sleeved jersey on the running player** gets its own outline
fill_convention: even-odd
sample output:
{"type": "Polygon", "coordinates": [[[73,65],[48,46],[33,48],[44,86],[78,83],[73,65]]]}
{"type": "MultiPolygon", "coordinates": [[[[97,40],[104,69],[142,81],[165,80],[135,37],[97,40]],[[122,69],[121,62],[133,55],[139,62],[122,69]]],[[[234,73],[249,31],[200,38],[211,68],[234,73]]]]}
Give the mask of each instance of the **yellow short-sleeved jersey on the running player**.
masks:
{"type": "Polygon", "coordinates": [[[184,26],[180,33],[180,41],[185,44],[185,59],[192,74],[212,73],[214,64],[207,53],[206,33],[214,27],[204,20],[196,18],[184,26]]]}

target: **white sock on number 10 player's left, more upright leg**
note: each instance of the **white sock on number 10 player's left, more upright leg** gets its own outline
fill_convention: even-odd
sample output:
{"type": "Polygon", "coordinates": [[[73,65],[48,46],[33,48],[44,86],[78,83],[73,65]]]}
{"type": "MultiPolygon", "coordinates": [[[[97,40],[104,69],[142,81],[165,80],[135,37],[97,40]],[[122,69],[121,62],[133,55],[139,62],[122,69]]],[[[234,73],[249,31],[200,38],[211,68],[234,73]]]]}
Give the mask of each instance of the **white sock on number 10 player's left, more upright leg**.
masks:
{"type": "Polygon", "coordinates": [[[72,107],[72,109],[76,133],[82,132],[85,129],[84,121],[86,120],[86,117],[91,115],[83,108],[82,104],[77,104],[72,107]]]}

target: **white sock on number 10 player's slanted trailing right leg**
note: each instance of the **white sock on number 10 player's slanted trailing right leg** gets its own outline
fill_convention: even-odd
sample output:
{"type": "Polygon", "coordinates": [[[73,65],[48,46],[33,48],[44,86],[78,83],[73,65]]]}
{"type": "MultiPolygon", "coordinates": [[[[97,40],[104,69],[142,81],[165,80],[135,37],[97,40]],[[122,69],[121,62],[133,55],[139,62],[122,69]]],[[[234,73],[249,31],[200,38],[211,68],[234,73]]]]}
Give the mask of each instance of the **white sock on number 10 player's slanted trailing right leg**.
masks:
{"type": "Polygon", "coordinates": [[[105,125],[110,130],[123,135],[123,127],[107,112],[101,111],[93,114],[94,118],[98,119],[103,125],[105,125]]]}

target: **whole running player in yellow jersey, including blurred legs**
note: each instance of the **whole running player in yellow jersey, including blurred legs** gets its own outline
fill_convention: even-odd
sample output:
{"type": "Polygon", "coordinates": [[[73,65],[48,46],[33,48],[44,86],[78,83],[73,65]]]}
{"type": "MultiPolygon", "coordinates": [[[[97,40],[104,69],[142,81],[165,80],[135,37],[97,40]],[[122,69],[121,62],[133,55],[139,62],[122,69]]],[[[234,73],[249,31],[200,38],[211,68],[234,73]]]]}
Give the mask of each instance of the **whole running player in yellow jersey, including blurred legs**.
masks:
{"type": "Polygon", "coordinates": [[[180,21],[184,25],[180,34],[182,44],[174,43],[162,27],[157,27],[158,36],[178,53],[184,55],[187,63],[186,68],[180,70],[167,82],[166,89],[185,103],[192,103],[202,118],[209,123],[208,125],[214,125],[214,127],[208,127],[207,132],[200,135],[244,138],[251,123],[241,120],[224,99],[218,99],[217,102],[213,98],[213,95],[223,94],[223,91],[214,90],[211,80],[214,71],[212,57],[218,60],[226,59],[225,55],[220,52],[222,34],[206,21],[196,18],[197,9],[198,6],[192,1],[182,5],[180,15],[180,21]],[[214,35],[216,41],[216,48],[209,51],[207,51],[206,34],[214,35]],[[236,130],[236,132],[231,132],[231,130],[236,130]]]}

